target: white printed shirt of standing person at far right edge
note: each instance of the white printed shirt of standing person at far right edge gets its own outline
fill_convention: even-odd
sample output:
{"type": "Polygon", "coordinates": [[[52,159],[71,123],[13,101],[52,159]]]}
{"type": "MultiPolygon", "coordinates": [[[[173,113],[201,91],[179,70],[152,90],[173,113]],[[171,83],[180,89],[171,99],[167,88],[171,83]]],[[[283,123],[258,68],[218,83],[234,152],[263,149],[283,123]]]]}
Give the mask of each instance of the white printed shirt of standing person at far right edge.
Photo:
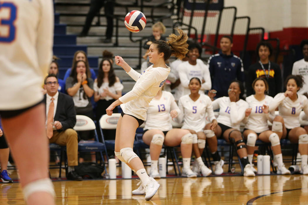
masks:
{"type": "Polygon", "coordinates": [[[292,75],[301,75],[304,78],[303,87],[297,92],[304,94],[308,92],[308,62],[304,59],[294,62],[292,68],[292,75]]]}

